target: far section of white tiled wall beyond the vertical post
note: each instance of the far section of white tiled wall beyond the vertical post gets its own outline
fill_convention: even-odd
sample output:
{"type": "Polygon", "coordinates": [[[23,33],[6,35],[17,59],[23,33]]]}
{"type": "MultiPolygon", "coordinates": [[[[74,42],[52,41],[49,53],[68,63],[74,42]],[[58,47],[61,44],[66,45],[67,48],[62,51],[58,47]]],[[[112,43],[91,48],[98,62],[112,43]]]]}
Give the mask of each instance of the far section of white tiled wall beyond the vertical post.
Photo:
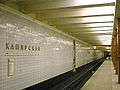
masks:
{"type": "Polygon", "coordinates": [[[76,42],[76,67],[80,67],[101,57],[102,52],[100,50],[93,50],[93,47],[87,47],[82,43],[76,42]]]}

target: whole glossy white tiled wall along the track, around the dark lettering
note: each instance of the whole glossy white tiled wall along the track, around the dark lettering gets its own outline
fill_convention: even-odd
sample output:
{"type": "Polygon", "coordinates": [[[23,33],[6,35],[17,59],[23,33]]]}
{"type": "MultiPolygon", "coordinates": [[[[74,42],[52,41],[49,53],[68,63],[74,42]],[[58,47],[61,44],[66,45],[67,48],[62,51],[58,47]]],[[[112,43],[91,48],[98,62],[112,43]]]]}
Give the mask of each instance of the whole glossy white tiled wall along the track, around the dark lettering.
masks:
{"type": "MultiPolygon", "coordinates": [[[[77,67],[93,58],[83,46],[77,46],[77,67]]],[[[0,9],[0,90],[21,90],[72,70],[72,64],[72,39],[0,9]],[[6,43],[40,46],[40,51],[8,50],[6,43]],[[14,59],[13,76],[8,76],[8,59],[14,59]]]]}

